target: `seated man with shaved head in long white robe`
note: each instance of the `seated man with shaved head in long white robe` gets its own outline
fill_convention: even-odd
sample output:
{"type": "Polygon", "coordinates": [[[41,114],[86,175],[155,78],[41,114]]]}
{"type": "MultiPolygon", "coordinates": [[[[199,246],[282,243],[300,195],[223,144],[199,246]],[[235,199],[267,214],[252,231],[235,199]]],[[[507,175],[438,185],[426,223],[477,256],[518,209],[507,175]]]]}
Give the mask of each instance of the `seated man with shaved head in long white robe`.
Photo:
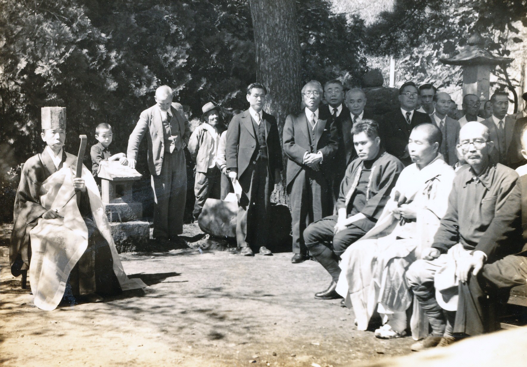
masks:
{"type": "MultiPolygon", "coordinates": [[[[375,227],[341,256],[343,270],[337,292],[353,306],[357,329],[366,330],[377,309],[383,318],[375,336],[399,338],[406,334],[406,310],[412,303],[405,272],[430,247],[446,212],[454,170],[438,153],[441,131],[433,124],[414,127],[408,143],[413,164],[399,176],[391,200],[375,227]],[[350,301],[350,302],[349,302],[350,301]]],[[[414,310],[418,311],[418,310],[414,310]]],[[[414,312],[412,334],[427,334],[428,324],[414,312]]],[[[422,335],[424,334],[424,335],[422,335]]]]}

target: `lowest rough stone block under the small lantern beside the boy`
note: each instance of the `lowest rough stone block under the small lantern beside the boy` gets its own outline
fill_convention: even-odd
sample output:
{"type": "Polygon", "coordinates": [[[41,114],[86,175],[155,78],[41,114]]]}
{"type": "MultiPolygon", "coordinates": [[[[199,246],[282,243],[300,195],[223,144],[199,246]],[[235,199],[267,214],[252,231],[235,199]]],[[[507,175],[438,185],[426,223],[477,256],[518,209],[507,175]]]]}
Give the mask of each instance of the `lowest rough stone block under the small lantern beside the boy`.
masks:
{"type": "Polygon", "coordinates": [[[132,221],[125,223],[110,223],[113,241],[117,251],[143,251],[147,249],[150,237],[150,223],[132,221]]]}

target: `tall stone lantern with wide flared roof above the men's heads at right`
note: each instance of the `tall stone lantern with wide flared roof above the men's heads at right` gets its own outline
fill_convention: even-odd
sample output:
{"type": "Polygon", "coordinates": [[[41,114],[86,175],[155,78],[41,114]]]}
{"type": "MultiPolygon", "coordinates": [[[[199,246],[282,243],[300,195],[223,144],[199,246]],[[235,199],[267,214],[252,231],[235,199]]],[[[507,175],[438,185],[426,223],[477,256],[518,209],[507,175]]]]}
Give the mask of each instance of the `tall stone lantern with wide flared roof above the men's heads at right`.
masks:
{"type": "Polygon", "coordinates": [[[480,100],[489,100],[491,66],[508,65],[514,59],[495,56],[483,49],[484,39],[479,34],[473,34],[467,39],[466,46],[450,58],[441,58],[447,65],[461,65],[463,69],[463,95],[475,94],[480,100]]]}

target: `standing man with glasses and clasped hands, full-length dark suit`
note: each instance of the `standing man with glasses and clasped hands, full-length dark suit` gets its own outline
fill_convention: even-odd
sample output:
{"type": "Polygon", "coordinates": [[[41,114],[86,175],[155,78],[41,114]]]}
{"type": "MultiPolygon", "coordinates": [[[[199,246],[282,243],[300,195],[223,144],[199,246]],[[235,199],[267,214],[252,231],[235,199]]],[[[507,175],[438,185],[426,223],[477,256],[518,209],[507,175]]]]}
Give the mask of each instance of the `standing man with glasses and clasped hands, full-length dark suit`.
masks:
{"type": "Polygon", "coordinates": [[[306,227],[333,213],[331,167],[338,149],[335,119],[327,108],[318,108],[322,85],[310,81],[301,93],[305,108],[287,116],[283,135],[289,158],[286,189],[291,203],[294,264],[309,259],[304,243],[306,227]]]}

